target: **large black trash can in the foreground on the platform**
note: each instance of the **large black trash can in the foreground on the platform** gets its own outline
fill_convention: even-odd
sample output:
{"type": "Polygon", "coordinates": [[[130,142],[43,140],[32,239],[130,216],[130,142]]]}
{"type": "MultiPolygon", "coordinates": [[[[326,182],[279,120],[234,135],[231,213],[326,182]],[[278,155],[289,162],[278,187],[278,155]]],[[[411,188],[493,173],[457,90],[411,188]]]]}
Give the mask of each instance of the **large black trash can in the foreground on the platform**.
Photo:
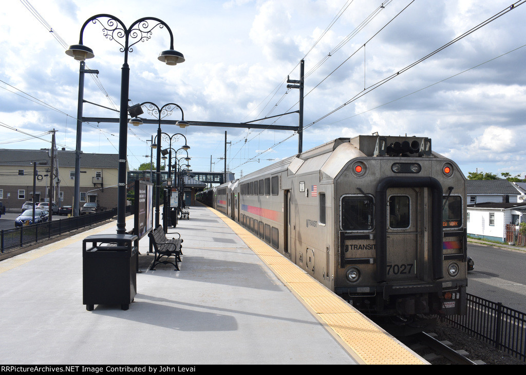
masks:
{"type": "Polygon", "coordinates": [[[83,304],[92,311],[95,304],[120,304],[128,310],[137,294],[136,235],[96,234],[82,245],[83,304]]]}

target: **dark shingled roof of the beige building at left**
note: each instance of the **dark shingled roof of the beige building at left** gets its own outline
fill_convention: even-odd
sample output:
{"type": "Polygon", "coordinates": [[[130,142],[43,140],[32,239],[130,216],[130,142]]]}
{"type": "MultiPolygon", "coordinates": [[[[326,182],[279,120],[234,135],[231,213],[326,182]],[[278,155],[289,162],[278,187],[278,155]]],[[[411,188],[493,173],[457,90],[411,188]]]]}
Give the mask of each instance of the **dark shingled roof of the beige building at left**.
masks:
{"type": "MultiPolygon", "coordinates": [[[[59,167],[75,167],[75,151],[57,150],[59,167]]],[[[8,150],[0,149],[0,165],[29,166],[32,162],[50,164],[48,149],[41,150],[8,150]]],[[[118,154],[80,154],[80,167],[118,168],[118,154]]]]}

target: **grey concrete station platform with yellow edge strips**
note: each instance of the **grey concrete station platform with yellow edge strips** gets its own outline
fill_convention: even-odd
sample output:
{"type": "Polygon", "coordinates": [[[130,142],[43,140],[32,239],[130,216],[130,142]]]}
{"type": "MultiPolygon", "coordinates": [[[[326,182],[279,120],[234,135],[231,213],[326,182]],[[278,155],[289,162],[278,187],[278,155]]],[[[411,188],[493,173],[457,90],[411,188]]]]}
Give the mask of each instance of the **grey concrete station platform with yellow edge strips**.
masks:
{"type": "Polygon", "coordinates": [[[115,231],[111,221],[0,262],[1,364],[427,363],[205,206],[167,233],[184,239],[180,271],[149,270],[146,236],[129,309],[87,311],[82,241],[115,231]]]}

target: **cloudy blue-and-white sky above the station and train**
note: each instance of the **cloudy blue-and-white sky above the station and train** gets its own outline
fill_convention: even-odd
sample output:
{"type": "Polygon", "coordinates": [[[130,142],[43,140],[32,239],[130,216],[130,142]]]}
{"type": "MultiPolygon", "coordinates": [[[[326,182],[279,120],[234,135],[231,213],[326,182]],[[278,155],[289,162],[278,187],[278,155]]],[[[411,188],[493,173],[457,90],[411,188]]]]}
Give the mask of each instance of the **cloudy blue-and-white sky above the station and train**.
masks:
{"type": "MultiPolygon", "coordinates": [[[[129,54],[132,104],[177,103],[185,120],[203,122],[296,111],[299,91],[287,90],[286,81],[299,79],[304,59],[304,151],[373,132],[427,136],[466,175],[524,176],[523,1],[510,8],[514,0],[6,0],[0,10],[0,148],[49,147],[47,132],[54,129],[58,148],[75,150],[79,63],[65,50],[78,43],[89,17],[110,14],[127,27],[143,17],[162,19],[186,59],[176,66],[157,60],[169,35],[156,27],[129,54]]],[[[100,24],[86,27],[84,44],[95,54],[87,68],[99,71],[86,75],[84,98],[98,106],[86,103],[84,116],[116,118],[107,108],[119,106],[124,54],[100,24]]],[[[176,110],[166,119],[180,116],[176,110]]],[[[239,177],[297,152],[296,134],[271,129],[297,126],[297,114],[259,123],[269,129],[163,131],[185,134],[194,171],[223,169],[227,131],[228,169],[239,177]]],[[[129,126],[130,169],[149,161],[147,141],[156,130],[129,126]]],[[[184,140],[173,142],[179,148],[184,140]]],[[[118,124],[85,123],[82,150],[117,154],[118,124]]]]}

